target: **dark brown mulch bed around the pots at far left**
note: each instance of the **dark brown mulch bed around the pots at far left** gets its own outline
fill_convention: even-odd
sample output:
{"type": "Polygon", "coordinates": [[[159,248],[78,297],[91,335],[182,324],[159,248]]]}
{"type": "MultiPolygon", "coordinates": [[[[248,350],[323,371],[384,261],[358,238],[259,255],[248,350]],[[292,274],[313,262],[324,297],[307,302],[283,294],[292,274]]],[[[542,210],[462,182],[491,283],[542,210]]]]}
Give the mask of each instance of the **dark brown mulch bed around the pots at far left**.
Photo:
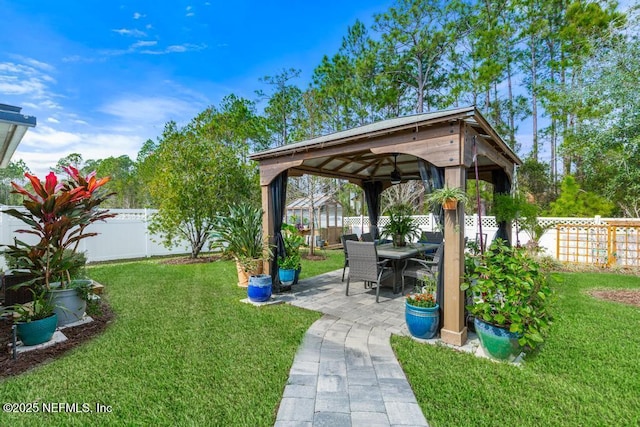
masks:
{"type": "Polygon", "coordinates": [[[57,359],[72,348],[102,333],[113,321],[115,314],[105,302],[99,303],[98,314],[92,314],[93,322],[84,325],[67,328],[63,334],[67,341],[51,347],[34,350],[17,355],[12,359],[9,343],[12,341],[11,321],[0,320],[0,379],[25,372],[42,363],[57,359]]]}

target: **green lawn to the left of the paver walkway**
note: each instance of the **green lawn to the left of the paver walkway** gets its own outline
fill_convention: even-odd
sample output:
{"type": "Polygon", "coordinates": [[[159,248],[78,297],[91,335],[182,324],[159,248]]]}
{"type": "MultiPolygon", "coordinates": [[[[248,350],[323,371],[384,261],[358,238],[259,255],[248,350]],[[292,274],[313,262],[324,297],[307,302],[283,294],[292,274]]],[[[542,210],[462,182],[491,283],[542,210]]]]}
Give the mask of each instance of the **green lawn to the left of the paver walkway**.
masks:
{"type": "MultiPolygon", "coordinates": [[[[301,277],[342,267],[303,260],[301,277]]],[[[289,369],[318,313],[240,303],[231,262],[100,265],[116,321],[65,357],[0,383],[0,401],[109,405],[110,413],[0,414],[2,425],[246,425],[275,422],[289,369]]]]}

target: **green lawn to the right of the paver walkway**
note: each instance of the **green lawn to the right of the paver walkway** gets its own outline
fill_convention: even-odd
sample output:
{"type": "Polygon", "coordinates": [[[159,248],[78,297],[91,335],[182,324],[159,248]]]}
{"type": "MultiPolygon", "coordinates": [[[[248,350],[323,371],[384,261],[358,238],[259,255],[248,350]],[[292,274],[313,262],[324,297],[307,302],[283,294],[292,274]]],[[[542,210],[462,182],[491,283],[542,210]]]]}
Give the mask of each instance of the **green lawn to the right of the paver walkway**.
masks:
{"type": "Polygon", "coordinates": [[[638,289],[640,278],[560,277],[551,336],[521,368],[392,338],[430,425],[640,425],[640,310],[586,293],[638,289]]]}

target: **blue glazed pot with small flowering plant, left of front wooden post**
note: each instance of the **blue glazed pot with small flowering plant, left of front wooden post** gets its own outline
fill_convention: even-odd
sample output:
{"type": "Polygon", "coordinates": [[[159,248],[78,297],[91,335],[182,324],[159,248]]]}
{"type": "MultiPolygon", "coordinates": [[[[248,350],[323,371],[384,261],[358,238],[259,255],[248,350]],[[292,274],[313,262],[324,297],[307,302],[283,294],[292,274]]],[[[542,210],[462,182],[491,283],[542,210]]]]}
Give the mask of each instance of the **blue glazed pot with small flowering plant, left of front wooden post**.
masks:
{"type": "Polygon", "coordinates": [[[438,334],[440,306],[436,302],[436,284],[436,275],[419,275],[415,292],[407,295],[405,321],[416,338],[431,339],[438,334]]]}

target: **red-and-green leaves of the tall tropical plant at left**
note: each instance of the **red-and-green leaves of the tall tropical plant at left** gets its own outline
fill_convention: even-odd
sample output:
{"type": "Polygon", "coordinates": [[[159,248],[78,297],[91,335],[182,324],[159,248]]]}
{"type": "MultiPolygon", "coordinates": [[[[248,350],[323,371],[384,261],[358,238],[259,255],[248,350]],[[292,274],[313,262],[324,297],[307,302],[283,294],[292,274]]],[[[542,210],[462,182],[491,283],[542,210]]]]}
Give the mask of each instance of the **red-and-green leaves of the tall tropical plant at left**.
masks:
{"type": "Polygon", "coordinates": [[[98,206],[113,195],[102,187],[109,178],[98,179],[95,172],[86,177],[72,166],[65,167],[69,178],[58,181],[51,172],[44,182],[26,173],[33,191],[28,191],[16,183],[11,183],[13,193],[25,196],[23,205],[26,212],[7,209],[4,213],[23,221],[30,228],[16,230],[17,233],[35,235],[38,242],[29,244],[14,238],[13,245],[7,245],[5,254],[15,268],[27,270],[35,279],[30,281],[44,284],[49,289],[53,281],[62,286],[71,280],[69,271],[84,264],[84,256],[76,251],[80,240],[95,236],[86,228],[96,221],[114,217],[108,210],[98,206]]]}

